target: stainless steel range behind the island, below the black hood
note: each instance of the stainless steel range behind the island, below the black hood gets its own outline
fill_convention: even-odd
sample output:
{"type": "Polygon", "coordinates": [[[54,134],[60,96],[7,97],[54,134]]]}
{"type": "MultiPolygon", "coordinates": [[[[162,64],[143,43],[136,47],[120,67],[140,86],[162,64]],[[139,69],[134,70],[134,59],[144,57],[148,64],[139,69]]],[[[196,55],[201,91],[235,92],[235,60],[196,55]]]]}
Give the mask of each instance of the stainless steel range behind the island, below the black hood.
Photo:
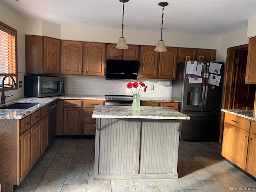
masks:
{"type": "Polygon", "coordinates": [[[105,95],[105,105],[132,106],[132,99],[131,95],[105,95]]]}

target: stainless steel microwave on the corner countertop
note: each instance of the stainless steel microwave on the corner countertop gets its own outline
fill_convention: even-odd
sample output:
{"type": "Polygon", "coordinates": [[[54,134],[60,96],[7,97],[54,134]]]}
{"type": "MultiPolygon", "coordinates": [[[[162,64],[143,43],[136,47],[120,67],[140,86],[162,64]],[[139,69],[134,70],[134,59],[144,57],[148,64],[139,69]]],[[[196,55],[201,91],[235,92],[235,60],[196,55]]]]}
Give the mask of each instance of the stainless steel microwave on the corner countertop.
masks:
{"type": "Polygon", "coordinates": [[[50,97],[65,94],[65,77],[24,76],[25,97],[50,97]]]}

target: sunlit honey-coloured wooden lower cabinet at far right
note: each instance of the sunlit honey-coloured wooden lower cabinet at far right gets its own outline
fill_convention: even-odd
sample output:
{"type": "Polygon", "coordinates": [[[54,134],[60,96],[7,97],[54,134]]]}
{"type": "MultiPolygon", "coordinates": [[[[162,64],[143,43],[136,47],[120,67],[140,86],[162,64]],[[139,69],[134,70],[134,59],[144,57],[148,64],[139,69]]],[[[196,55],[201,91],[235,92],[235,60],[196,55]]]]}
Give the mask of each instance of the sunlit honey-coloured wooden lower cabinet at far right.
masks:
{"type": "Polygon", "coordinates": [[[256,177],[255,121],[233,114],[225,114],[222,156],[256,177]]]}

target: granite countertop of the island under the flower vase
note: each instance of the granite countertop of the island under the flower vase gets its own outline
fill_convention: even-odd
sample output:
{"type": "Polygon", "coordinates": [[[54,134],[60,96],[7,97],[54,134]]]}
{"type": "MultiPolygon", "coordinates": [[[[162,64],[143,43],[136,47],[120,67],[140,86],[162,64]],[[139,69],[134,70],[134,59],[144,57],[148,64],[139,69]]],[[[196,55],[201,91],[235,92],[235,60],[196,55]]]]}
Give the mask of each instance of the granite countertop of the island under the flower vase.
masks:
{"type": "Polygon", "coordinates": [[[180,119],[189,120],[190,117],[169,107],[141,106],[140,112],[133,112],[132,106],[97,105],[92,118],[132,118],[132,119],[180,119]]]}

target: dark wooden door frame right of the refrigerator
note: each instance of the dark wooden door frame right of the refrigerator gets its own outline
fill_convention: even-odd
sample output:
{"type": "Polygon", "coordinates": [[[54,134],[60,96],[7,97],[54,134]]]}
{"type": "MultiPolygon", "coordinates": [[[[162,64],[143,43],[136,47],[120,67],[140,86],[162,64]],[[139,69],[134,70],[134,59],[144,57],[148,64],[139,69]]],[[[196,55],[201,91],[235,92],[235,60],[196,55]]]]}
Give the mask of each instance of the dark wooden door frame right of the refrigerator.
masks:
{"type": "MultiPolygon", "coordinates": [[[[232,94],[233,94],[234,76],[235,76],[235,68],[236,68],[236,65],[235,65],[236,52],[240,50],[245,50],[245,49],[248,49],[248,44],[228,48],[225,78],[224,78],[224,90],[223,90],[223,98],[222,98],[222,109],[232,108],[232,94]]],[[[224,124],[224,112],[222,112],[221,120],[220,120],[220,139],[219,139],[220,142],[222,142],[223,124],[224,124]]]]}

